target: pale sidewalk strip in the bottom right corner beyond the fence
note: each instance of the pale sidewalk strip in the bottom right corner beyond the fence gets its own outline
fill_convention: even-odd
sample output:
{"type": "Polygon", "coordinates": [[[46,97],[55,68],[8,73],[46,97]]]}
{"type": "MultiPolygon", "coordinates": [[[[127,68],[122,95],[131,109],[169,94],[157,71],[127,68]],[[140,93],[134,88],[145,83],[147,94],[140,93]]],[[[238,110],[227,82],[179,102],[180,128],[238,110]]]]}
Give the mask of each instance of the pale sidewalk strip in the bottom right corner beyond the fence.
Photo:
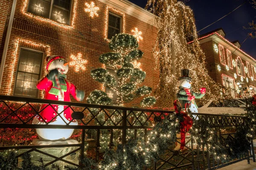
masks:
{"type": "Polygon", "coordinates": [[[247,160],[244,160],[218,170],[256,170],[256,162],[250,159],[250,164],[247,164],[247,160]]]}

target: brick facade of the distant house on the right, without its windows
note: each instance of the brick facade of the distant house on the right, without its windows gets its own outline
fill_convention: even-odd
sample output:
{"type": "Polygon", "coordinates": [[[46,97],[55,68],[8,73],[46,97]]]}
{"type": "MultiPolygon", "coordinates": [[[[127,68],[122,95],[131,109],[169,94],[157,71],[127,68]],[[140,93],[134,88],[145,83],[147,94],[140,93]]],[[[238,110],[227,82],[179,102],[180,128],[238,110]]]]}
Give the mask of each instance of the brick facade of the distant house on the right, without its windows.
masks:
{"type": "MultiPolygon", "coordinates": [[[[237,85],[237,82],[239,82],[242,86],[240,86],[240,89],[243,88],[243,91],[245,89],[247,92],[256,91],[256,88],[254,88],[256,87],[256,69],[254,69],[254,67],[256,66],[255,59],[244,53],[244,51],[241,51],[239,48],[237,48],[235,45],[226,40],[217,32],[200,38],[200,44],[206,56],[206,64],[209,75],[210,77],[212,77],[213,80],[215,80],[215,82],[227,86],[227,82],[225,82],[225,79],[228,77],[227,79],[229,80],[229,82],[233,79],[234,87],[232,88],[235,89],[236,87],[239,87],[237,85]],[[218,51],[215,51],[216,46],[218,47],[218,51]],[[224,49],[224,59],[221,59],[220,56],[222,47],[224,49]],[[228,59],[228,54],[230,53],[231,59],[228,59]],[[234,67],[232,63],[229,64],[230,61],[232,62],[233,60],[236,62],[236,67],[234,67]],[[237,63],[239,62],[239,60],[241,62],[241,65],[243,65],[239,67],[242,68],[240,70],[243,72],[243,75],[241,75],[242,73],[239,75],[238,72],[237,63]],[[218,70],[219,67],[220,71],[218,70]],[[228,69],[226,67],[228,67],[228,69]],[[248,70],[247,73],[245,71],[245,67],[248,70]],[[235,74],[237,75],[237,77],[235,77],[235,74]],[[243,81],[241,77],[243,77],[243,81]],[[253,80],[251,77],[253,77],[253,80]],[[249,87],[252,87],[253,89],[250,90],[249,87]]],[[[236,97],[240,97],[235,90],[234,94],[236,94],[236,97]]]]}

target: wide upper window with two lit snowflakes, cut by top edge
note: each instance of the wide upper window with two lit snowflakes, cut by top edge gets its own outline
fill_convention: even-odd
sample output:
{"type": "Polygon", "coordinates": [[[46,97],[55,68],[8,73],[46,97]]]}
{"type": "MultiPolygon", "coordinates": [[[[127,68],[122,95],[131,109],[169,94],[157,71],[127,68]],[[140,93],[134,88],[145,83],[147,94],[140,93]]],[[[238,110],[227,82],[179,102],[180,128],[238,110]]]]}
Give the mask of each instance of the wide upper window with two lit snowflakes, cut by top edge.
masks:
{"type": "Polygon", "coordinates": [[[28,12],[69,24],[72,0],[30,0],[28,12]]]}

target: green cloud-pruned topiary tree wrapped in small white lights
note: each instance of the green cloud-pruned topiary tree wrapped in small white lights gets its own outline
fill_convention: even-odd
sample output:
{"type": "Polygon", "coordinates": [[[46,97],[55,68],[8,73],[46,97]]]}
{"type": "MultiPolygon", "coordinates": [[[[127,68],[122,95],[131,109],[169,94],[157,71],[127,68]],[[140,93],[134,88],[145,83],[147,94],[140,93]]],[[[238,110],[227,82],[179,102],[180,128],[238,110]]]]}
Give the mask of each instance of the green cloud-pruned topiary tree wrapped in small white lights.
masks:
{"type": "MultiPolygon", "coordinates": [[[[113,51],[102,54],[99,62],[106,67],[114,69],[114,76],[104,68],[96,68],[91,71],[91,76],[97,82],[113,90],[117,96],[117,105],[129,103],[135,98],[151,93],[152,88],[139,85],[146,77],[145,71],[134,67],[134,63],[141,59],[143,52],[138,49],[137,39],[129,34],[117,34],[110,43],[109,48],[113,51]]],[[[87,98],[91,104],[110,105],[111,98],[103,91],[93,91],[87,98]]],[[[152,96],[145,97],[140,105],[154,105],[156,99],[152,96]]]]}

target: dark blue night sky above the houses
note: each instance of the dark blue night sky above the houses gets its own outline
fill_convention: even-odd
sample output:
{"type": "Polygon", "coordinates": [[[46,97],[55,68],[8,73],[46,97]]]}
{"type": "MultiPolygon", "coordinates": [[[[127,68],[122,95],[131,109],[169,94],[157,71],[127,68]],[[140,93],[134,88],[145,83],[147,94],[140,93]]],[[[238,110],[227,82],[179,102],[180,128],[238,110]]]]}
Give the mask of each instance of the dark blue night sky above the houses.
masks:
{"type": "MultiPolygon", "coordinates": [[[[144,8],[147,0],[129,0],[132,3],[144,8]]],[[[189,0],[185,2],[190,6],[195,14],[197,30],[208,26],[216,20],[228,14],[233,9],[244,3],[245,0],[189,0]]],[[[256,9],[247,2],[240,8],[233,11],[227,17],[224,17],[217,23],[199,32],[199,35],[222,27],[226,33],[226,39],[230,42],[239,40],[240,44],[246,39],[249,29],[248,23],[252,20],[256,21],[256,9]]],[[[241,49],[256,59],[256,39],[248,38],[242,45],[241,49]]]]}

